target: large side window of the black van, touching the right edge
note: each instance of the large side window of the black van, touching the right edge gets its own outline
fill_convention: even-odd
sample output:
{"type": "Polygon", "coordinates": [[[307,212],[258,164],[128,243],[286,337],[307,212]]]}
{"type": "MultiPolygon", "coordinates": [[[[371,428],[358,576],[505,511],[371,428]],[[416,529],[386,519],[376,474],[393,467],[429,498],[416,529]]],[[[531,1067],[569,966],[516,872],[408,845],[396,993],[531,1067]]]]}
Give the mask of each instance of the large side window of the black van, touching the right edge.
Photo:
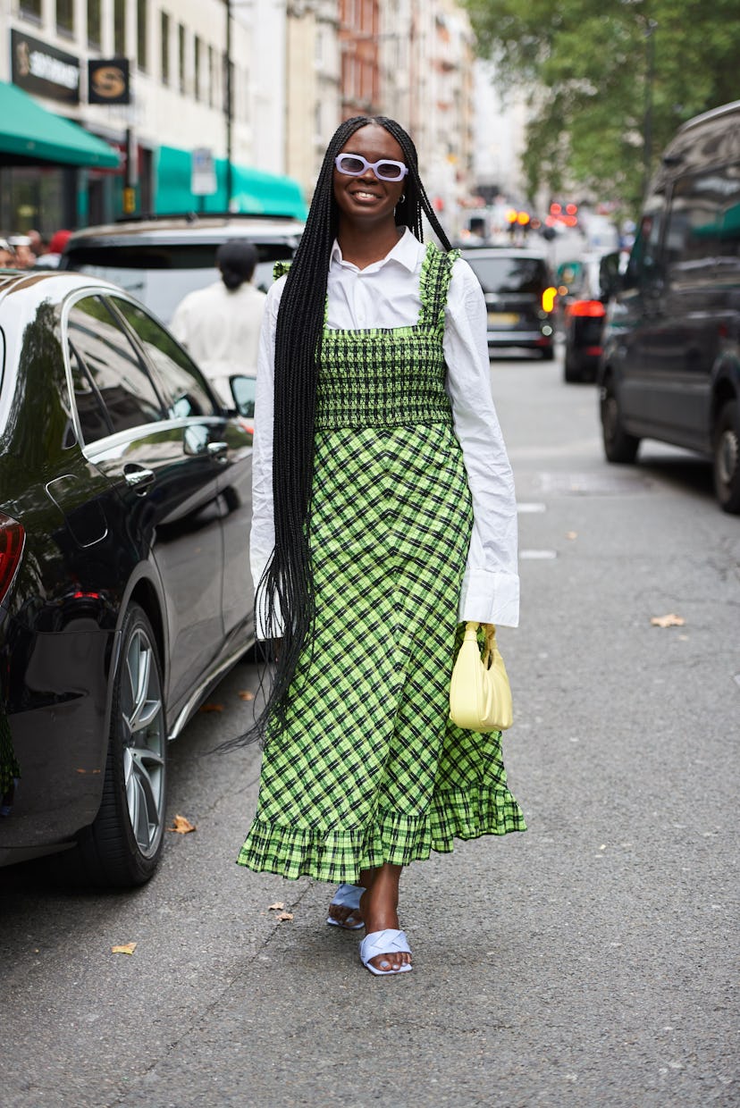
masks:
{"type": "Polygon", "coordinates": [[[674,186],[664,245],[667,270],[740,259],[740,165],[679,178],[674,186]]]}

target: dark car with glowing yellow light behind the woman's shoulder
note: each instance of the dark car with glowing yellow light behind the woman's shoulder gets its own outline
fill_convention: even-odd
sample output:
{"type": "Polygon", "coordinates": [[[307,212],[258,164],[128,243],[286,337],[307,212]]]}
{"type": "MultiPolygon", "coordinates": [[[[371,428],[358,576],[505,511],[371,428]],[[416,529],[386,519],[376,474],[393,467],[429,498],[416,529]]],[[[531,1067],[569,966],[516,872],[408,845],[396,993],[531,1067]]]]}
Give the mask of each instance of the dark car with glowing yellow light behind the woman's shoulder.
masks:
{"type": "Polygon", "coordinates": [[[526,247],[461,250],[481,283],[489,311],[489,351],[504,347],[555,357],[556,289],[543,254],[526,247]]]}

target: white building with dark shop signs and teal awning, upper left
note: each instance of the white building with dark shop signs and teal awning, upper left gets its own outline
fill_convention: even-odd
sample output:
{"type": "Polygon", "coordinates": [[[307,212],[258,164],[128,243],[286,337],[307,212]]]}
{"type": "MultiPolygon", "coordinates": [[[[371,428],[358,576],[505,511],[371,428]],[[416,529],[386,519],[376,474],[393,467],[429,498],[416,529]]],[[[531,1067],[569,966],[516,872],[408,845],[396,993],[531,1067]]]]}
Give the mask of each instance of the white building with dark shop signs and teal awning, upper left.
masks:
{"type": "Polygon", "coordinates": [[[116,170],[3,161],[4,230],[49,233],[126,211],[259,211],[275,195],[296,214],[302,209],[297,186],[270,192],[268,175],[284,173],[286,127],[286,17],[273,0],[0,4],[0,81],[121,157],[116,170]],[[275,55],[267,64],[269,47],[278,48],[277,65],[275,55]]]}

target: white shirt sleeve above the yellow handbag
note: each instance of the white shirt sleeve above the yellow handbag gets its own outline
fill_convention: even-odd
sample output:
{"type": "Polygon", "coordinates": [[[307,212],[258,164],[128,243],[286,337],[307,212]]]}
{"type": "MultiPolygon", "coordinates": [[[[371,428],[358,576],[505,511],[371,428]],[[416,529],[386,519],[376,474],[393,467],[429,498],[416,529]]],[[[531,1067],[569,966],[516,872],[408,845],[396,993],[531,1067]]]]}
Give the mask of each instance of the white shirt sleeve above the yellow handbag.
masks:
{"type": "Polygon", "coordinates": [[[475,274],[454,265],[445,309],[444,355],[455,434],[473,499],[473,533],[459,618],[518,625],[514,478],[491,394],[485,300],[475,274]]]}

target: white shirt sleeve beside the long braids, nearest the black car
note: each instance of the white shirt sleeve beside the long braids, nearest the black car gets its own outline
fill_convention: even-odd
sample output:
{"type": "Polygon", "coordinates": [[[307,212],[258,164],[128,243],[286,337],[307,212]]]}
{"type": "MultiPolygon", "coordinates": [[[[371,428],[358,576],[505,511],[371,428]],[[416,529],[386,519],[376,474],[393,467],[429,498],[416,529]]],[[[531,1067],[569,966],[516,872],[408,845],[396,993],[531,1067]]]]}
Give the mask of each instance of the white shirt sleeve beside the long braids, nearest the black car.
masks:
{"type": "MultiPolygon", "coordinates": [[[[249,564],[255,588],[275,546],[275,505],[273,500],[273,424],[275,411],[275,327],[285,278],[267,294],[257,356],[255,392],[255,434],[251,460],[251,533],[249,564]]],[[[257,637],[266,637],[265,613],[255,612],[257,637]]]]}

